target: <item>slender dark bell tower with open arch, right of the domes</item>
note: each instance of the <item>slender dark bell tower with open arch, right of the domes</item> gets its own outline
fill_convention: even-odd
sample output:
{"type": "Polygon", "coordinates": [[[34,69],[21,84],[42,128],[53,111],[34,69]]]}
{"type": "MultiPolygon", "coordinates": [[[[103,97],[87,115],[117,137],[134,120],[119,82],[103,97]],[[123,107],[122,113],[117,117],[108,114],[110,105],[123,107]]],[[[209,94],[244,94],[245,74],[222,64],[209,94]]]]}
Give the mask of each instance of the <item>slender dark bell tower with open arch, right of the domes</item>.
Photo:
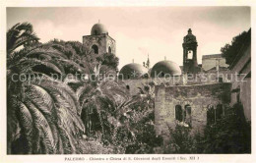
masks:
{"type": "Polygon", "coordinates": [[[183,72],[184,73],[197,73],[200,68],[197,64],[197,39],[192,34],[191,28],[188,29],[188,33],[183,38],[183,72]]]}

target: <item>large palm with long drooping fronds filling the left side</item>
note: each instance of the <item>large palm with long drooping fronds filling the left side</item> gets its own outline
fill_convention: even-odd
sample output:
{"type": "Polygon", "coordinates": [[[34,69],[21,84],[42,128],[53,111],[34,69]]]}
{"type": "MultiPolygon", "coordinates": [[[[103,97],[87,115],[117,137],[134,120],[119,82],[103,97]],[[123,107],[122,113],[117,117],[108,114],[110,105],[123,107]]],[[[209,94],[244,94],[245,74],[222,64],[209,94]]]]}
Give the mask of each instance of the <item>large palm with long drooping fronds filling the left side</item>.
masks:
{"type": "Polygon", "coordinates": [[[81,107],[63,79],[67,66],[82,68],[37,41],[28,23],[7,32],[8,153],[77,153],[77,138],[85,132],[81,107]]]}

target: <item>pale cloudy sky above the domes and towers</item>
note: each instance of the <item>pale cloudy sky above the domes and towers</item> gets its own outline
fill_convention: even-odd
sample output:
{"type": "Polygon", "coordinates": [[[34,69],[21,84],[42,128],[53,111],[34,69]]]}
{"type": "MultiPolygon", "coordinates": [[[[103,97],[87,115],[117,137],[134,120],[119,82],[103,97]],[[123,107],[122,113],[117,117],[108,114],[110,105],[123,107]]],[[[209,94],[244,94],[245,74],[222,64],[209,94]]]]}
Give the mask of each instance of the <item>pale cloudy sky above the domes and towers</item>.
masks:
{"type": "Polygon", "coordinates": [[[188,28],[197,37],[197,58],[202,63],[202,55],[220,54],[233,36],[248,30],[250,19],[249,7],[7,8],[7,28],[29,22],[41,42],[53,38],[82,42],[100,20],[116,40],[119,70],[133,60],[142,64],[148,54],[151,67],[164,57],[181,66],[188,28]]]}

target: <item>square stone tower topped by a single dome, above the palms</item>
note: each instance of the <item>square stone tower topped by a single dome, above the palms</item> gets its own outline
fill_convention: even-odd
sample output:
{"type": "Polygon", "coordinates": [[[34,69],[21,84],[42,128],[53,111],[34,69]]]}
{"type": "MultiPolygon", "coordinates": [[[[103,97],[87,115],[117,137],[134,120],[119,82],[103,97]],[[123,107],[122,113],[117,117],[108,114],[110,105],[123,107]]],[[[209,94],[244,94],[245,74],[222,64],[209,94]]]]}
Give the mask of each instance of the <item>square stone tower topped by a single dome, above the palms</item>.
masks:
{"type": "Polygon", "coordinates": [[[83,44],[96,54],[116,53],[115,40],[108,35],[106,27],[99,23],[92,27],[91,35],[83,36],[83,44]]]}

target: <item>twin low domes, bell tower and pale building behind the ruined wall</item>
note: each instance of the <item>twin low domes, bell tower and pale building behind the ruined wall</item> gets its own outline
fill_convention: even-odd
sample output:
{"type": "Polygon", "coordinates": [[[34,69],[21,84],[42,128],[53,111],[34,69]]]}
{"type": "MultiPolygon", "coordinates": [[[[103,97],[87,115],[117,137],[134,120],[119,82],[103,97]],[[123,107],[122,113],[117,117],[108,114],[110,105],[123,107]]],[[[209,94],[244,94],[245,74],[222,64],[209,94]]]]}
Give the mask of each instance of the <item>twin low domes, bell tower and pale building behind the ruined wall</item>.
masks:
{"type": "MultiPolygon", "coordinates": [[[[204,84],[228,81],[228,69],[223,64],[225,61],[224,58],[220,55],[210,55],[210,57],[205,55],[203,57],[203,65],[198,65],[197,46],[196,36],[192,34],[192,30],[189,28],[182,43],[183,66],[178,66],[172,61],[163,60],[155,64],[153,68],[149,69],[147,67],[149,71],[146,72],[147,69],[144,69],[140,64],[132,63],[125,65],[119,72],[119,75],[123,77],[132,95],[139,92],[138,87],[142,87],[152,81],[156,84],[164,83],[165,85],[204,84]],[[216,64],[216,59],[221,60],[220,66],[216,64]],[[206,67],[208,67],[206,69],[207,71],[203,69],[206,67]],[[197,76],[196,79],[193,81],[187,80],[189,74],[197,76]],[[222,76],[219,77],[219,74],[222,76]]],[[[149,59],[148,62],[150,62],[149,59]]]]}

